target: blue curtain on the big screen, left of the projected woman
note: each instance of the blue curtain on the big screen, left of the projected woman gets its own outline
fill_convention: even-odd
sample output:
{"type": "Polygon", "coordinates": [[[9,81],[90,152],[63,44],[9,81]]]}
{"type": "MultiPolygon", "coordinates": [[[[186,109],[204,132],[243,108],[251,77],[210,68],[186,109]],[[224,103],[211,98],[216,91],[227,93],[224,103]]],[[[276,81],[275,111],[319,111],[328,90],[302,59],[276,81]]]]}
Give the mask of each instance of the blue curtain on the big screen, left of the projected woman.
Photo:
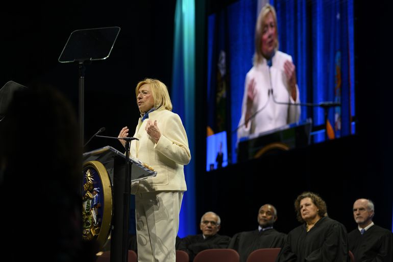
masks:
{"type": "MultiPolygon", "coordinates": [[[[239,1],[208,17],[207,46],[207,102],[208,126],[214,127],[216,74],[219,51],[226,53],[226,79],[228,80],[227,115],[228,162],[236,162],[236,128],[240,120],[244,78],[253,64],[254,32],[257,2],[239,1]],[[225,38],[223,35],[225,34],[225,38]],[[226,44],[223,44],[223,40],[226,44]]],[[[213,130],[215,131],[215,130],[213,130]]],[[[219,131],[215,131],[219,132],[219,131]]]]}

